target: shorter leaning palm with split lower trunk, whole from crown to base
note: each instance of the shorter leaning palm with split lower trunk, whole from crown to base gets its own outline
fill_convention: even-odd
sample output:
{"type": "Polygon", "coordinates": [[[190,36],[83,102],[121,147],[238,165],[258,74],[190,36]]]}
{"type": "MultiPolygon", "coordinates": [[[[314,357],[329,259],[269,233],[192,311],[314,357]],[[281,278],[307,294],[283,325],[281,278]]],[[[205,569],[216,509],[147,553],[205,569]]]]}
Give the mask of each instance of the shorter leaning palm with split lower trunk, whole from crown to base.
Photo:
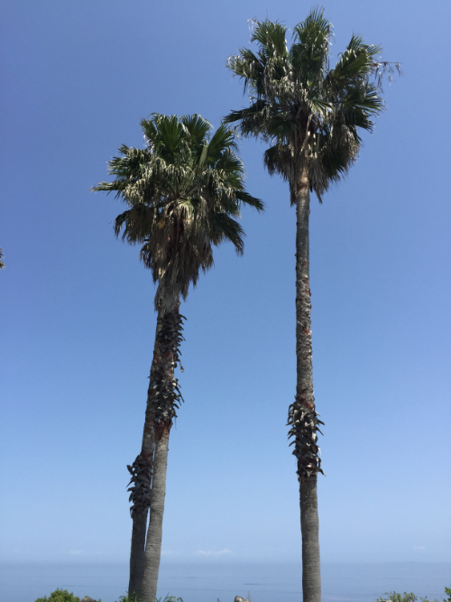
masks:
{"type": "Polygon", "coordinates": [[[153,281],[158,282],[143,446],[133,466],[128,467],[133,483],[129,594],[153,602],[161,556],[170,427],[182,400],[174,376],[182,340],[180,296],[185,299],[189,285],[196,285],[200,272],[213,265],[213,246],[230,241],[236,253],[243,254],[244,231],[236,221],[241,205],[259,211],[263,207],[262,201],[244,188],[244,166],[235,154],[235,134],[226,126],[211,134],[212,126],[201,116],[158,114],[143,119],[141,125],[145,148],[121,146],[120,156],[109,162],[115,181],[100,182],[93,190],[114,191],[128,205],[115,219],[115,234],[123,232],[125,241],[142,245],[140,258],[152,271],[153,281]]]}

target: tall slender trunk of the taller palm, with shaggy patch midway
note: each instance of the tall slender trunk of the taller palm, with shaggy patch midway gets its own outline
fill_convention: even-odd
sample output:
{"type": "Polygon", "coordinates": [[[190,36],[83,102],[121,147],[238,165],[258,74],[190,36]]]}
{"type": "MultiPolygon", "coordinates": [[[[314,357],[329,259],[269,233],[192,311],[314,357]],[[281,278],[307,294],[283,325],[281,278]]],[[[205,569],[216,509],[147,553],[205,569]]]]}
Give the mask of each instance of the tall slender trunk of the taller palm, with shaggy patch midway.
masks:
{"type": "Polygon", "coordinates": [[[310,213],[308,164],[296,183],[296,358],[295,403],[290,406],[291,434],[295,435],[294,455],[298,459],[300,529],[302,533],[303,602],[321,602],[318,540],[317,476],[318,419],[315,412],[310,329],[310,282],[308,256],[308,217],[310,213]]]}

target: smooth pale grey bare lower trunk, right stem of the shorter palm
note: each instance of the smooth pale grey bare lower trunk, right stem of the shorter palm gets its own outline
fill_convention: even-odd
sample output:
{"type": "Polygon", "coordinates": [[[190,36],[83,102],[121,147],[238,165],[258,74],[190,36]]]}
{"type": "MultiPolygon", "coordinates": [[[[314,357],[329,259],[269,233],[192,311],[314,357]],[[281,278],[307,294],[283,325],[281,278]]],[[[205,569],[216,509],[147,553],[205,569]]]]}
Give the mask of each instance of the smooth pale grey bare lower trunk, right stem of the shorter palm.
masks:
{"type": "Polygon", "coordinates": [[[152,513],[145,546],[145,565],[143,602],[154,602],[157,595],[158,573],[161,559],[161,538],[166,495],[166,472],[168,467],[168,449],[170,422],[159,424],[155,428],[155,458],[153,460],[152,513]]]}

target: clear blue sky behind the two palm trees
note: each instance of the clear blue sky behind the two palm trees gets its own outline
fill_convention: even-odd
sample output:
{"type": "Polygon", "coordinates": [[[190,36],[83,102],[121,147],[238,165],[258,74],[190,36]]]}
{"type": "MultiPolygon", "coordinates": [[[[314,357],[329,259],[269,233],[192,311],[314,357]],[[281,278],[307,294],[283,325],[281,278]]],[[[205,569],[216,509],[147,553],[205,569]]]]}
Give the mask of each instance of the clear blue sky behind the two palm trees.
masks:
{"type": "MultiPolygon", "coordinates": [[[[225,68],[247,20],[292,0],[3,0],[0,560],[126,560],[126,464],[141,447],[155,315],[119,201],[91,193],[152,112],[215,126],[243,107],[225,68]]],[[[451,560],[451,5],[330,0],[404,76],[347,181],[312,199],[313,366],[326,422],[328,561],[451,560]]],[[[216,250],[189,293],[171,431],[165,559],[300,561],[295,460],[295,214],[244,141],[243,258],[216,250]]]]}

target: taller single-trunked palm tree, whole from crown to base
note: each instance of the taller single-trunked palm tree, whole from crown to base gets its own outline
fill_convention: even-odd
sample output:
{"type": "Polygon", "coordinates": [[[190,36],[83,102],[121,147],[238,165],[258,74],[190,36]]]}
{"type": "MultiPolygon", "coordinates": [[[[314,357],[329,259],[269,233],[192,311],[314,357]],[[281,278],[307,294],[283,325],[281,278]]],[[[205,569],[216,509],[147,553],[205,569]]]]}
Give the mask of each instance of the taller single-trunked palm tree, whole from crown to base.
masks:
{"type": "Polygon", "coordinates": [[[309,192],[321,202],[331,182],[354,163],[362,141],[359,128],[372,131],[383,107],[382,73],[391,65],[377,59],[381,49],[353,35],[336,66],[329,68],[332,25],[315,9],[296,25],[290,49],[281,23],[255,22],[251,42],[258,51],[241,49],[228,68],[244,80],[250,106],[232,111],[225,122],[238,122],[244,136],[271,144],[263,160],[290,188],[296,206],[296,355],[297,385],[289,408],[289,437],[297,458],[302,533],[304,602],[319,602],[317,477],[321,469],[318,419],[313,395],[308,258],[309,192]]]}

